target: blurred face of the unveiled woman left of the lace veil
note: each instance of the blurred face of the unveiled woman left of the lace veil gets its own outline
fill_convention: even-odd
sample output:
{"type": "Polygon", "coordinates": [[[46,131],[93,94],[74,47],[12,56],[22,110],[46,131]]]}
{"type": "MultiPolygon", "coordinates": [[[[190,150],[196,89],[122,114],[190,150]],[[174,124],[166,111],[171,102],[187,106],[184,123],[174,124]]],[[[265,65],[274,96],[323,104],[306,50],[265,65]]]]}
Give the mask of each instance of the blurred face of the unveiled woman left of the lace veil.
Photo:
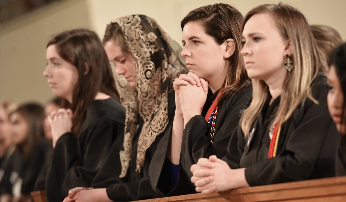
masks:
{"type": "Polygon", "coordinates": [[[77,68],[60,57],[56,46],[50,45],[46,50],[47,67],[43,75],[48,79],[54,95],[72,102],[73,88],[78,81],[77,68]]]}

